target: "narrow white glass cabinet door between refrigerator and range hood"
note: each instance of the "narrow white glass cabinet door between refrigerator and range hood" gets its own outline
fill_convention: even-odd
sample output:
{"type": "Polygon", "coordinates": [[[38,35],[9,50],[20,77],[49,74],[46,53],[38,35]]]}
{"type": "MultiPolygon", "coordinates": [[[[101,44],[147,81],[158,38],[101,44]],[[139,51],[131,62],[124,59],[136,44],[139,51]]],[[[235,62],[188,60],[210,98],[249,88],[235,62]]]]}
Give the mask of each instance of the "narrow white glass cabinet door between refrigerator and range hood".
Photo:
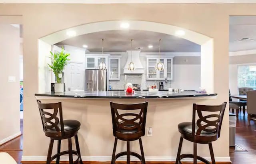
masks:
{"type": "Polygon", "coordinates": [[[120,80],[120,58],[109,59],[109,80],[120,80]]]}

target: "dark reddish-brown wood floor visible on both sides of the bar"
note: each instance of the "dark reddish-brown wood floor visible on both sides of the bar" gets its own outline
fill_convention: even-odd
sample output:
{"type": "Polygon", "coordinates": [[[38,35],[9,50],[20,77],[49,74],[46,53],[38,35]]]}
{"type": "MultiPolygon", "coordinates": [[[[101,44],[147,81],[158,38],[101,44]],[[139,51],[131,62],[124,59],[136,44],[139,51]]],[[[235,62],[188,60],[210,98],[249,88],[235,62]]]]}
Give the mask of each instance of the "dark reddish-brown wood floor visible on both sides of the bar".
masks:
{"type": "MultiPolygon", "coordinates": [[[[23,132],[22,120],[21,131],[23,132]]],[[[20,136],[0,146],[0,152],[8,152],[20,164],[22,141],[23,136],[20,136]]],[[[242,112],[239,114],[239,120],[236,123],[236,144],[238,147],[230,148],[232,163],[256,164],[256,124],[251,121],[251,126],[247,126],[247,114],[244,117],[242,112]]]]}

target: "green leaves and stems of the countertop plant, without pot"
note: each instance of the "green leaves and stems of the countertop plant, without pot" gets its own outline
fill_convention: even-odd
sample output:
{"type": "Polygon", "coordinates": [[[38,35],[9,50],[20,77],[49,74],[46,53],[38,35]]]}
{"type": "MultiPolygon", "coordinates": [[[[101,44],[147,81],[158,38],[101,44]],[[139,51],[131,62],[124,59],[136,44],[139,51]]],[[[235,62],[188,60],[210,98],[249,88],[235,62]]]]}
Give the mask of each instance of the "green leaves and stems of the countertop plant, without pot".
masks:
{"type": "Polygon", "coordinates": [[[70,61],[70,54],[65,53],[64,49],[62,48],[61,52],[51,53],[51,64],[48,64],[48,66],[51,68],[52,72],[55,74],[57,83],[61,83],[61,78],[59,78],[59,74],[62,74],[65,66],[68,64],[68,61],[70,61]]]}

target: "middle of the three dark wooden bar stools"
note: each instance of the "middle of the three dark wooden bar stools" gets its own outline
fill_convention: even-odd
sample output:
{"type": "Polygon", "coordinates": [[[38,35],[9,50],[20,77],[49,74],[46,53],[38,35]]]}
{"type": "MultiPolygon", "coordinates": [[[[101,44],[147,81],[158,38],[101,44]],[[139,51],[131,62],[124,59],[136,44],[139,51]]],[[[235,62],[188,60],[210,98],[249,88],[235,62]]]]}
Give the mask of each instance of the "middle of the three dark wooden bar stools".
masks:
{"type": "Polygon", "coordinates": [[[142,146],[141,137],[145,135],[146,126],[146,114],[148,108],[148,102],[139,104],[116,104],[110,102],[112,123],[113,123],[113,135],[115,137],[113,154],[111,164],[116,163],[116,159],[120,156],[127,155],[127,164],[130,164],[130,155],[137,157],[142,164],[146,164],[145,156],[142,146]],[[122,113],[119,114],[118,110],[138,110],[137,113],[122,113]],[[123,140],[127,143],[127,151],[116,154],[117,141],[123,140]],[[130,151],[130,141],[139,140],[141,156],[135,152],[130,151]],[[116,154],[116,155],[115,155],[116,154]]]}

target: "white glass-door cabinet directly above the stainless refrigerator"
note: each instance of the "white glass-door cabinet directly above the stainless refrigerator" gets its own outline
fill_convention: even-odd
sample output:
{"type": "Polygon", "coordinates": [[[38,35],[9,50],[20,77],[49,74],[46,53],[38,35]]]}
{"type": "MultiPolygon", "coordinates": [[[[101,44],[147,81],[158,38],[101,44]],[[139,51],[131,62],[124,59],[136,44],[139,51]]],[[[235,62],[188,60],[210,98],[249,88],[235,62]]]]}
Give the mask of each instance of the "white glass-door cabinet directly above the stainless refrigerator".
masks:
{"type": "Polygon", "coordinates": [[[98,69],[102,61],[105,62],[108,67],[108,56],[86,56],[85,69],[98,69]]]}

